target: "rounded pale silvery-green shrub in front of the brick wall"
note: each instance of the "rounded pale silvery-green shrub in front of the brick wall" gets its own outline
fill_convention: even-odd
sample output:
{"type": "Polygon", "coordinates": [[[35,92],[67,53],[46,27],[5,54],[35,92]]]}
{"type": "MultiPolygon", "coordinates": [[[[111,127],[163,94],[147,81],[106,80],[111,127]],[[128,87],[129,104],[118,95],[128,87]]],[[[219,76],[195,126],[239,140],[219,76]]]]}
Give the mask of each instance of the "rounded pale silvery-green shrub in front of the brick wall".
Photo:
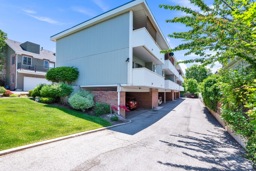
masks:
{"type": "Polygon", "coordinates": [[[72,108],[85,111],[94,105],[93,97],[90,91],[77,91],[68,99],[68,102],[72,108]]]}

